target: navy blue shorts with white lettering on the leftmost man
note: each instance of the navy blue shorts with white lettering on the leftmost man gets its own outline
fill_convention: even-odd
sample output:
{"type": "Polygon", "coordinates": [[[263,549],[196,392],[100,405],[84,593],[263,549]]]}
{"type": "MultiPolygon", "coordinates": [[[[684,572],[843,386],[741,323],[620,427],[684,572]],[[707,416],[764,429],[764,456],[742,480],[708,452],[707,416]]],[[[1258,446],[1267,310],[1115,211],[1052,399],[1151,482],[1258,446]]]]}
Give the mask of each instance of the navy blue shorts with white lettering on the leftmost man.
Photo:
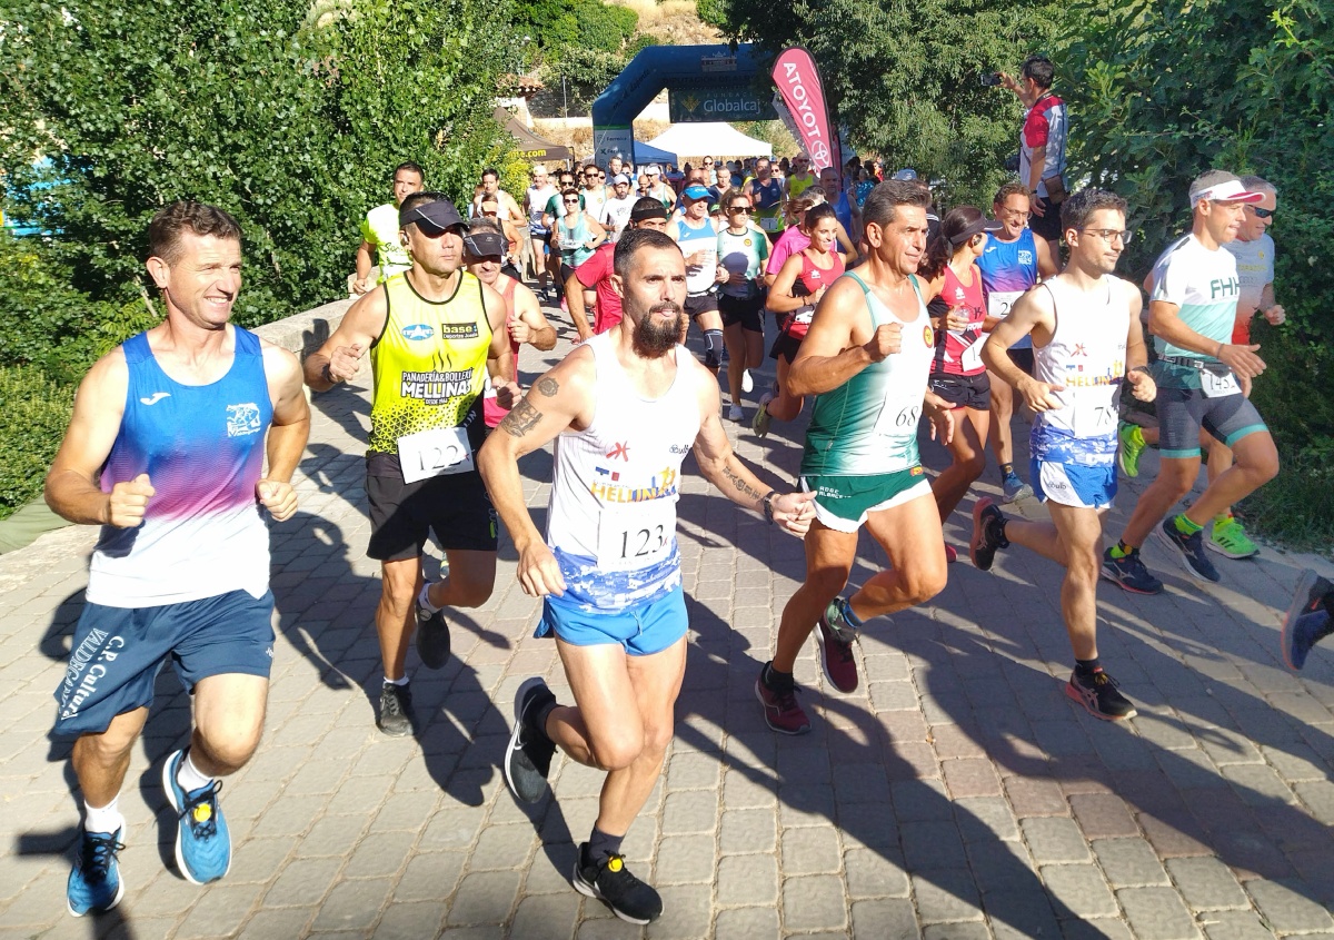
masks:
{"type": "Polygon", "coordinates": [[[233,590],[160,608],[85,604],[56,689],[51,737],[100,734],[117,714],[153,702],[153,684],[171,657],[181,685],[193,692],[209,676],[268,678],[273,664],[273,594],[233,590]]]}

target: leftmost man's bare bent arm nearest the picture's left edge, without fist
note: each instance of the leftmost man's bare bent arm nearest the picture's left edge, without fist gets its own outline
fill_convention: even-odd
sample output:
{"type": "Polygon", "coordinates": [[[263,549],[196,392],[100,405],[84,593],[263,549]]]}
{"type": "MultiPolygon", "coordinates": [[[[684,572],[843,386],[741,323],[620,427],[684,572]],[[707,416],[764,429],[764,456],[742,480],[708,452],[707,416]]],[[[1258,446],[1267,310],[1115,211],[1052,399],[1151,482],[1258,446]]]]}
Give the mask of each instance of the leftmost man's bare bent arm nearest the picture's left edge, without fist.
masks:
{"type": "Polygon", "coordinates": [[[120,348],[99,359],[79,383],[45,487],[47,505],[75,525],[112,525],[111,494],[97,486],[97,473],[120,433],[128,389],[129,369],[120,348]]]}

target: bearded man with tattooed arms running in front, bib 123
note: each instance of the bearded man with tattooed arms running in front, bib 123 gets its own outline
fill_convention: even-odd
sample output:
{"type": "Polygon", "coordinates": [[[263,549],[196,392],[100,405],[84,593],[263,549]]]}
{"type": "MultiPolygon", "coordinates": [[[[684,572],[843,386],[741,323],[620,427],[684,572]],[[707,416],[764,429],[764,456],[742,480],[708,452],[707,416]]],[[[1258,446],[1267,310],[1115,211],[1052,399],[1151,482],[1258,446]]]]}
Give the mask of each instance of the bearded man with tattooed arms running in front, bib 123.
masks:
{"type": "Polygon", "coordinates": [[[574,887],[622,920],[647,924],[662,899],[630,873],[620,845],[662,772],[686,670],[682,461],[694,447],[700,473],[723,494],[796,534],[810,525],[811,497],[778,495],[732,453],[718,381],[679,342],[686,264],[675,242],[626,232],[614,283],[624,319],[538,379],[482,449],[480,466],[519,553],[519,583],[543,598],[538,634],[555,634],[575,700],[558,705],[540,678],[519,688],[506,781],[516,798],[536,802],[556,748],[607,772],[574,887]],[[550,441],[544,539],[518,461],[550,441]]]}

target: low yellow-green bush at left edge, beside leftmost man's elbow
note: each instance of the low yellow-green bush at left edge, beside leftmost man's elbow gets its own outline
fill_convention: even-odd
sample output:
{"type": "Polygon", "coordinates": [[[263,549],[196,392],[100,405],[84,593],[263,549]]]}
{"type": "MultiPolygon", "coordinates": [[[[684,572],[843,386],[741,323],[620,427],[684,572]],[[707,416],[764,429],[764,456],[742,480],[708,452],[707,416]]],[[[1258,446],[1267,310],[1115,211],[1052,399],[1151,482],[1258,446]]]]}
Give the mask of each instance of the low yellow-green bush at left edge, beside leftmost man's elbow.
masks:
{"type": "Polygon", "coordinates": [[[0,366],[0,519],[41,493],[73,398],[37,367],[0,366]]]}

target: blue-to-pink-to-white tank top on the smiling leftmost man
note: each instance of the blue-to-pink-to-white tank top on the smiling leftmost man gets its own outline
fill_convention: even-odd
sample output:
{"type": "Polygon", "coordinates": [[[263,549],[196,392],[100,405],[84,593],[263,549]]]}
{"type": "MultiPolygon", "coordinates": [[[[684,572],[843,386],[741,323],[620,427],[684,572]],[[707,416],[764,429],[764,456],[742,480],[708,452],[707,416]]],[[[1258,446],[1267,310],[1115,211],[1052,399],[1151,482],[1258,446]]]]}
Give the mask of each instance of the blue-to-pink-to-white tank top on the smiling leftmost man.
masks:
{"type": "Polygon", "coordinates": [[[103,526],[87,597],[108,608],[155,608],[268,590],[268,529],[255,483],[273,406],[259,336],[228,327],[227,374],[181,385],[157,365],[147,334],[124,344],[129,387],[101,490],[147,473],[156,493],[137,529],[103,526]]]}

